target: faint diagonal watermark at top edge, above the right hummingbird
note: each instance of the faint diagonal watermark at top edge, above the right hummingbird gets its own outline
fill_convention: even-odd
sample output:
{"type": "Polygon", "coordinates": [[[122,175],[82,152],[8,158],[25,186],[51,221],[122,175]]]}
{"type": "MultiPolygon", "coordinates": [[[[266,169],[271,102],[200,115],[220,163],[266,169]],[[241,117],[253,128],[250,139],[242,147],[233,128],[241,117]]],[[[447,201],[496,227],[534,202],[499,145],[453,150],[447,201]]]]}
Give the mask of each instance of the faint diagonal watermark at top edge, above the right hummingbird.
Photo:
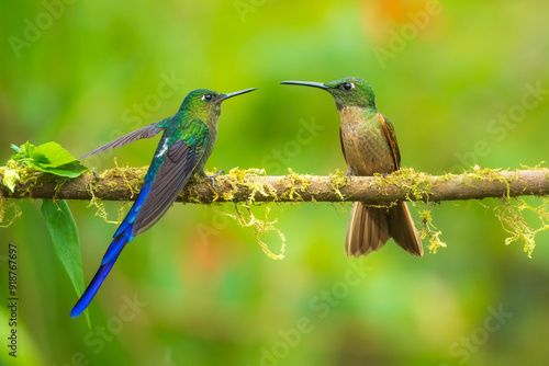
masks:
{"type": "Polygon", "coordinates": [[[376,46],[372,49],[381,69],[386,67],[389,59],[394,59],[396,55],[404,52],[408,42],[415,39],[419,32],[429,25],[433,16],[437,16],[441,12],[442,7],[438,0],[428,0],[424,10],[406,12],[410,22],[403,24],[397,32],[395,30],[389,31],[390,37],[386,48],[376,46]]]}

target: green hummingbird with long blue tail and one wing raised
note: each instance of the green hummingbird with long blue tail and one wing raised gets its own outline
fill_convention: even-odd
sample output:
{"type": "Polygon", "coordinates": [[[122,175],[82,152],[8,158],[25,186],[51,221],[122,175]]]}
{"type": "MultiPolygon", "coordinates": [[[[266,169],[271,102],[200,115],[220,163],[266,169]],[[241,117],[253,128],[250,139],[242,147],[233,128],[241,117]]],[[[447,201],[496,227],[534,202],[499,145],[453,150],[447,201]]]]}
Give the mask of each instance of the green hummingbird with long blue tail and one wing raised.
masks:
{"type": "Polygon", "coordinates": [[[88,307],[124,247],[166,214],[192,173],[210,179],[213,185],[215,176],[221,171],[208,176],[204,173],[204,164],[212,153],[217,137],[221,103],[254,90],[256,88],[229,94],[206,89],[194,90],[184,98],[173,116],[142,127],[79,158],[117,148],[142,138],[150,138],[164,130],[139,195],[114,232],[96,276],[70,311],[72,317],[78,317],[88,307]]]}

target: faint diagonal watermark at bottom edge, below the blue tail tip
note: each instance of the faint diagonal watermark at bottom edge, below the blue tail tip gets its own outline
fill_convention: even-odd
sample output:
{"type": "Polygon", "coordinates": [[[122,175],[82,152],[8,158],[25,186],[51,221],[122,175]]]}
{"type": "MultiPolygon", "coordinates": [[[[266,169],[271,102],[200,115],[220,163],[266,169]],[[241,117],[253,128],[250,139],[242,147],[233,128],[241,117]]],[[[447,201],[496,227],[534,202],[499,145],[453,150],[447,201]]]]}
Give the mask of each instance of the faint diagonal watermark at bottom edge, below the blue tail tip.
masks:
{"type": "MultiPolygon", "coordinates": [[[[94,325],[85,335],[83,344],[90,347],[93,354],[99,354],[105,348],[108,342],[114,340],[115,335],[120,334],[125,324],[133,321],[143,310],[143,308],[148,306],[148,302],[141,301],[137,295],[133,298],[124,295],[122,296],[124,305],[119,309],[117,314],[112,316],[107,320],[104,325],[94,325]]],[[[86,356],[85,352],[75,352],[70,357],[70,362],[61,365],[55,364],[54,366],[79,366],[79,365],[91,365],[90,359],[86,356]]]]}

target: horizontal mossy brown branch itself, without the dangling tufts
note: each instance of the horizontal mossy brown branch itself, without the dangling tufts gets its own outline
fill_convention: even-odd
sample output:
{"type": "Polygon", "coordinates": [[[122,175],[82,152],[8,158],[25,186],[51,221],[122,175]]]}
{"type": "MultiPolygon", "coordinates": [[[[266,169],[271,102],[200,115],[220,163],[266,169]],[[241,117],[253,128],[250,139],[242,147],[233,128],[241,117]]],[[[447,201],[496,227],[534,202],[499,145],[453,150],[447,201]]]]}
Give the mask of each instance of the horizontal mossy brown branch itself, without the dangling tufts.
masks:
{"type": "MultiPolygon", "coordinates": [[[[11,192],[0,184],[0,196],[12,198],[58,198],[133,201],[139,191],[146,168],[112,169],[102,174],[82,174],[77,179],[18,171],[19,181],[11,192]]],[[[0,168],[0,182],[5,168],[0,168]]],[[[389,205],[397,201],[441,202],[549,194],[549,169],[501,171],[474,168],[463,174],[429,175],[412,169],[382,176],[352,176],[343,172],[329,176],[267,176],[262,170],[233,169],[209,181],[192,180],[178,197],[186,203],[223,202],[354,202],[389,205]]]]}

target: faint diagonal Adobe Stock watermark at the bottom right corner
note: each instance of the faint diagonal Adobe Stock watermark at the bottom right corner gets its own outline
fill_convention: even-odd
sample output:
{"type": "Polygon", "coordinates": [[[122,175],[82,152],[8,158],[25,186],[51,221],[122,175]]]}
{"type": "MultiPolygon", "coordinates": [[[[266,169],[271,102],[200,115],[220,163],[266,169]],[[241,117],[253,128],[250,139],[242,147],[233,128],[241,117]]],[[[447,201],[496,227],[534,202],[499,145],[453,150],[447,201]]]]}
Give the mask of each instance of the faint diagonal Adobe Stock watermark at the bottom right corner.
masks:
{"type": "MultiPolygon", "coordinates": [[[[468,336],[453,342],[448,348],[450,356],[457,358],[459,365],[466,364],[471,358],[471,354],[478,352],[489,341],[490,335],[501,330],[513,317],[513,312],[506,312],[502,304],[497,306],[497,309],[489,307],[488,312],[482,325],[473,329],[468,336]]],[[[448,364],[440,364],[440,366],[448,366],[448,364]]]]}

